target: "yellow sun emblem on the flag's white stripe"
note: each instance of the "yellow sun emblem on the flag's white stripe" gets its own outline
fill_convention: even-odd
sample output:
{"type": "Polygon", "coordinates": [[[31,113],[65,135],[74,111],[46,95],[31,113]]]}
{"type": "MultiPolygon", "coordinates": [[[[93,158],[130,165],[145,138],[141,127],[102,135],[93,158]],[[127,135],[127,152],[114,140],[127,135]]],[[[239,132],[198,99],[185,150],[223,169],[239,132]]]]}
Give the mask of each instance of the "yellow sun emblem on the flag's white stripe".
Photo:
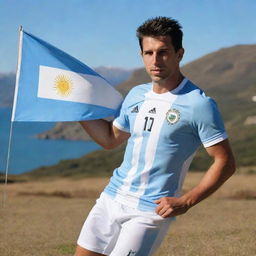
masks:
{"type": "Polygon", "coordinates": [[[54,89],[60,96],[67,97],[73,89],[72,80],[66,75],[58,75],[54,81],[54,89]]]}

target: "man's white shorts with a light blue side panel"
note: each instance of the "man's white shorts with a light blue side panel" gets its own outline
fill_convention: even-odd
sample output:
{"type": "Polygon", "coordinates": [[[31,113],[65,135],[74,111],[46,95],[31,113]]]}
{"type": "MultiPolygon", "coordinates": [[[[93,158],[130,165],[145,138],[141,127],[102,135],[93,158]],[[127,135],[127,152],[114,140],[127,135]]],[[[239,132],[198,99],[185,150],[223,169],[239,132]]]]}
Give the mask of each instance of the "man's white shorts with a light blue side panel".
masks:
{"type": "Polygon", "coordinates": [[[111,256],[150,256],[174,218],[162,218],[114,201],[102,193],[88,215],[77,244],[111,256]]]}

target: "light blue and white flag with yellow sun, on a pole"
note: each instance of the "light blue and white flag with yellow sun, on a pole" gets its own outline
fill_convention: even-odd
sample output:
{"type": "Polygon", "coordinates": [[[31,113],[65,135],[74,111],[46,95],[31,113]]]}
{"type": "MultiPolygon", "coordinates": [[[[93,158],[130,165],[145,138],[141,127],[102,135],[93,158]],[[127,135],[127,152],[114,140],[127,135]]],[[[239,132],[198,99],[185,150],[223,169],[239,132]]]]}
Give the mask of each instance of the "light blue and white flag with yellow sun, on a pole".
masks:
{"type": "Polygon", "coordinates": [[[20,29],[12,121],[81,121],[115,116],[121,94],[94,70],[20,29]]]}

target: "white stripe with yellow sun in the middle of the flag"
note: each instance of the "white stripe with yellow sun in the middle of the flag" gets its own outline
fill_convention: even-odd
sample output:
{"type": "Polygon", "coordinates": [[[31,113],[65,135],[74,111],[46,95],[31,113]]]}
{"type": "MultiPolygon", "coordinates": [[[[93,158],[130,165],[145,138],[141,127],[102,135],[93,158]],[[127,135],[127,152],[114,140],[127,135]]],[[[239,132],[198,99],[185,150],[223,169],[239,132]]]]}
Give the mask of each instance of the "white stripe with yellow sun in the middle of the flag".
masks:
{"type": "Polygon", "coordinates": [[[116,109],[122,101],[121,94],[99,76],[47,66],[40,66],[37,96],[111,109],[116,109]]]}

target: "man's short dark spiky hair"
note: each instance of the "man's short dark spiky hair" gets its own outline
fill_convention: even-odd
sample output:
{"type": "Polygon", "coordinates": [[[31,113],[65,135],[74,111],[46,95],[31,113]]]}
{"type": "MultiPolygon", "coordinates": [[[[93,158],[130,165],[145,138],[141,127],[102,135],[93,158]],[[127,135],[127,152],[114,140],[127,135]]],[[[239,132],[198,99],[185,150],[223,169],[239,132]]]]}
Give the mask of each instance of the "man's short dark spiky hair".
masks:
{"type": "Polygon", "coordinates": [[[146,20],[137,29],[137,37],[140,43],[140,49],[142,50],[142,40],[145,36],[158,37],[158,36],[170,36],[173,47],[177,52],[182,48],[182,26],[175,19],[168,17],[156,17],[146,20]]]}

